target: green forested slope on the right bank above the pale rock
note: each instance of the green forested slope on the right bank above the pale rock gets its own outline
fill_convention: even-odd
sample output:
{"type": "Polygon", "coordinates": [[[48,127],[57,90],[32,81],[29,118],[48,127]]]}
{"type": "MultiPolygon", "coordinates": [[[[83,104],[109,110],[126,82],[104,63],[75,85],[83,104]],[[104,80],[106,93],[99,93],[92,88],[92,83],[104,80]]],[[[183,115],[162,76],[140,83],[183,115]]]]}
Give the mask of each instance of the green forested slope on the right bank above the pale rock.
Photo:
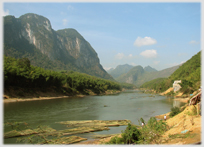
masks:
{"type": "Polygon", "coordinates": [[[144,83],[141,88],[155,89],[157,92],[163,92],[175,80],[182,80],[181,91],[191,93],[201,86],[201,51],[194,55],[191,59],[180,66],[169,78],[155,79],[144,83]]]}

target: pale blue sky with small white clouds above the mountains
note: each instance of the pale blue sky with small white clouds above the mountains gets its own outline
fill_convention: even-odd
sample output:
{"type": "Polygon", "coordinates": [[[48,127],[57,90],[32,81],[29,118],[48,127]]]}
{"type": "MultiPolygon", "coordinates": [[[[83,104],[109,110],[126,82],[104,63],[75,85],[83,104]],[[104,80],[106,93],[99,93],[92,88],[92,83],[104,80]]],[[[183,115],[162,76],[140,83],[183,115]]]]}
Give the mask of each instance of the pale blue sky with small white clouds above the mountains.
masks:
{"type": "Polygon", "coordinates": [[[199,2],[3,3],[3,15],[36,13],[54,30],[76,29],[105,68],[130,64],[162,70],[201,50],[199,2]]]}

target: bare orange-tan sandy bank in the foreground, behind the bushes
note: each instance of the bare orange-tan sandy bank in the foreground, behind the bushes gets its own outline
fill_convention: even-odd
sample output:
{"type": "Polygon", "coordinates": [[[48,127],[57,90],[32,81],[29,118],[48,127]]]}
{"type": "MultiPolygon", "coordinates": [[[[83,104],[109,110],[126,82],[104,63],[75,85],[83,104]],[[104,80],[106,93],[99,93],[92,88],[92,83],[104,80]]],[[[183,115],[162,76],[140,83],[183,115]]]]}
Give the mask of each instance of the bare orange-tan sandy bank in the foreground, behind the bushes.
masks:
{"type": "MultiPolygon", "coordinates": [[[[164,115],[167,116],[166,123],[169,126],[167,130],[159,139],[159,144],[162,145],[184,145],[184,144],[200,144],[201,143],[201,115],[195,114],[196,105],[183,106],[181,113],[174,117],[169,117],[170,112],[155,116],[164,121],[164,115]]],[[[102,139],[95,139],[76,143],[75,145],[91,144],[101,145],[109,142],[114,136],[121,136],[115,134],[104,137],[102,139]]],[[[151,143],[152,145],[154,143],[151,143]]]]}

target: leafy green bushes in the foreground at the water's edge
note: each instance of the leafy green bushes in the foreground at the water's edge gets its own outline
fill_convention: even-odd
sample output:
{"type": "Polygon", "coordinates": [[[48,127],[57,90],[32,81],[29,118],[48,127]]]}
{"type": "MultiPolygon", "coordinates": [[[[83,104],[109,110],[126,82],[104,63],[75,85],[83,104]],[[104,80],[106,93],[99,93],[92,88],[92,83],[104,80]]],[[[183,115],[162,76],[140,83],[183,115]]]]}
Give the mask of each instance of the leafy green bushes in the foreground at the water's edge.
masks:
{"type": "MultiPolygon", "coordinates": [[[[142,118],[141,121],[144,121],[142,118]]],[[[151,117],[147,125],[137,128],[133,124],[128,124],[125,131],[122,131],[121,137],[112,137],[106,144],[150,144],[152,142],[159,143],[159,137],[167,131],[166,122],[157,121],[155,117],[151,117]]]]}

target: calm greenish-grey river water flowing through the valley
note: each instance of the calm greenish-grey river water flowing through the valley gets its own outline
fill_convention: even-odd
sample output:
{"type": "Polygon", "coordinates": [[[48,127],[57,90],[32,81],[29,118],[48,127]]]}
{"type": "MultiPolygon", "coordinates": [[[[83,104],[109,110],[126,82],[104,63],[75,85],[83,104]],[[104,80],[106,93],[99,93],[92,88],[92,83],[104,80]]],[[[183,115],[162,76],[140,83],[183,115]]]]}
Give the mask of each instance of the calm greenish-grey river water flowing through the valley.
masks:
{"type": "MultiPolygon", "coordinates": [[[[129,90],[116,95],[70,97],[39,101],[4,103],[4,123],[26,122],[32,128],[46,125],[56,130],[67,129],[66,125],[56,122],[70,120],[131,120],[139,125],[142,117],[164,114],[173,106],[183,103],[160,95],[145,94],[139,90],[129,90]]],[[[110,130],[78,134],[93,139],[93,134],[121,133],[126,126],[109,127],[110,130]]],[[[4,132],[11,127],[4,127],[4,132]]],[[[16,144],[16,138],[4,139],[4,144],[16,144]]]]}

